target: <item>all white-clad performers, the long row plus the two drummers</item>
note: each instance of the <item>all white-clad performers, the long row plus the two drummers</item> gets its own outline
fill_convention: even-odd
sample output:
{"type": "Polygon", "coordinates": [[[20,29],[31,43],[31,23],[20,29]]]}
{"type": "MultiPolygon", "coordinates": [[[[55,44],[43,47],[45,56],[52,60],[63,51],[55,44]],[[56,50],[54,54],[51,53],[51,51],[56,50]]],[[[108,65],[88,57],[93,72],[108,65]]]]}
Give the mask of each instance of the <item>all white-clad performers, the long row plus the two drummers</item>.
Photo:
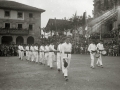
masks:
{"type": "MultiPolygon", "coordinates": [[[[57,56],[57,70],[63,73],[64,78],[68,81],[68,69],[70,66],[71,61],[71,51],[72,51],[72,44],[70,43],[70,38],[66,37],[61,40],[57,46],[57,50],[54,48],[54,44],[41,44],[41,45],[26,45],[24,48],[22,45],[18,46],[19,58],[23,60],[24,52],[26,52],[26,60],[31,62],[40,63],[43,65],[47,65],[51,69],[53,68],[53,62],[55,60],[55,53],[57,56]]],[[[94,59],[95,56],[98,58],[96,65],[103,68],[102,63],[102,54],[105,54],[104,51],[103,41],[96,45],[94,41],[91,42],[88,46],[88,51],[90,52],[90,59],[91,64],[90,67],[92,69],[95,68],[94,66],[94,59]]]]}

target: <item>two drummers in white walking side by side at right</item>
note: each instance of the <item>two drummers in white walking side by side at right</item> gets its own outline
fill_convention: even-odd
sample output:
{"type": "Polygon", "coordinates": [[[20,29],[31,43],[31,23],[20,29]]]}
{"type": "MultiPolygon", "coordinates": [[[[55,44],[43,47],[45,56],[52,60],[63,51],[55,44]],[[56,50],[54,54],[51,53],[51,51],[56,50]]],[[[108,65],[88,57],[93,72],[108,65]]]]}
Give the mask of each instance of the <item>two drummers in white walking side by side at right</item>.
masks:
{"type": "Polygon", "coordinates": [[[95,41],[93,40],[91,42],[91,44],[88,46],[88,51],[90,52],[90,58],[91,58],[90,67],[93,68],[93,69],[95,68],[94,60],[95,60],[95,57],[96,57],[98,59],[97,62],[96,62],[96,65],[98,67],[103,68],[102,55],[106,55],[106,53],[107,53],[105,51],[103,41],[100,40],[99,43],[96,45],[95,41]]]}

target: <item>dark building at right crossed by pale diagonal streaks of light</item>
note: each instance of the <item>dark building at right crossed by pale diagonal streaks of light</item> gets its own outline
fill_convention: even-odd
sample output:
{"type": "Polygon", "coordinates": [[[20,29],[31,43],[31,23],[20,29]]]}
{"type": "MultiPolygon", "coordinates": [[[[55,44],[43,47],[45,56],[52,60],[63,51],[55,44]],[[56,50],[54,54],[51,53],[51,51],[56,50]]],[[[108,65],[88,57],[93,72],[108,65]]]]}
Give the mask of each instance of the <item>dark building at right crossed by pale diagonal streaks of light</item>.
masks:
{"type": "Polygon", "coordinates": [[[119,43],[120,0],[94,0],[93,15],[94,19],[89,23],[91,36],[119,43]]]}

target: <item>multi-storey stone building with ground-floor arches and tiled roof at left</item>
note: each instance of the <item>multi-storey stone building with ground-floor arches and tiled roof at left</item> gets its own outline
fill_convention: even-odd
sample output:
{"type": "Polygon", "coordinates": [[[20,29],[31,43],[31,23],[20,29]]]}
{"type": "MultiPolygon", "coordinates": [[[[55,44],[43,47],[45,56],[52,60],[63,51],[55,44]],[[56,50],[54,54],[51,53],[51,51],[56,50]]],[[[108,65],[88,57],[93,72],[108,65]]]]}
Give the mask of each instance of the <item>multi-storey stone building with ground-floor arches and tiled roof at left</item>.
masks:
{"type": "Polygon", "coordinates": [[[14,1],[0,1],[0,44],[38,43],[44,11],[14,1]]]}

